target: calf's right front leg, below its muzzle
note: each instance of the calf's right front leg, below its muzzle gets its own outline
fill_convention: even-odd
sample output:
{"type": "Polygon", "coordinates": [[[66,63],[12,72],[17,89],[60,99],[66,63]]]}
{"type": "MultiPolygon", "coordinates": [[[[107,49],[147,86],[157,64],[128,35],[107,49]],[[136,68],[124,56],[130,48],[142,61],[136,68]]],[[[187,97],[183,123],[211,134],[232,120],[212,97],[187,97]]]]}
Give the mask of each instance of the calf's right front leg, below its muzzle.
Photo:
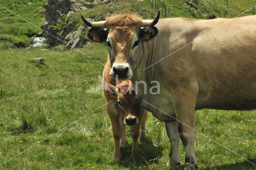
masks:
{"type": "Polygon", "coordinates": [[[140,134],[140,122],[130,127],[130,135],[132,136],[132,156],[138,155],[139,134],[140,134]]]}

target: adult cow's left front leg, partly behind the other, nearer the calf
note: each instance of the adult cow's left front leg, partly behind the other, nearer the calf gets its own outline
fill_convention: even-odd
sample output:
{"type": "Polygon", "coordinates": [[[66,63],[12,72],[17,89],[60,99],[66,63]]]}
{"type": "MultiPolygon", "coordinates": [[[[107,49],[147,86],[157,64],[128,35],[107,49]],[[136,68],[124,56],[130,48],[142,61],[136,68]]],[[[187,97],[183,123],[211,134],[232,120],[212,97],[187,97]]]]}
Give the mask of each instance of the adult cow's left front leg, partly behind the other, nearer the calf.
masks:
{"type": "Polygon", "coordinates": [[[180,165],[180,136],[178,132],[178,122],[176,120],[173,122],[166,122],[165,127],[171,144],[169,161],[166,166],[180,165]]]}

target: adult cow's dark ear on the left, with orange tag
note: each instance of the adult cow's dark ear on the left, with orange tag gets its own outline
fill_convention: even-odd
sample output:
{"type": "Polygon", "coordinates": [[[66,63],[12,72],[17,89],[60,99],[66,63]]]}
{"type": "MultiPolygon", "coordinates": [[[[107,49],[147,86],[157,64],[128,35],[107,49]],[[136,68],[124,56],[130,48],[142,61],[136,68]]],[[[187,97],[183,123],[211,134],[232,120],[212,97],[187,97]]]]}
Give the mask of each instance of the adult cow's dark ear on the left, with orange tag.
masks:
{"type": "Polygon", "coordinates": [[[86,32],[86,36],[89,40],[96,42],[105,42],[108,38],[107,30],[101,28],[91,28],[86,32]]]}

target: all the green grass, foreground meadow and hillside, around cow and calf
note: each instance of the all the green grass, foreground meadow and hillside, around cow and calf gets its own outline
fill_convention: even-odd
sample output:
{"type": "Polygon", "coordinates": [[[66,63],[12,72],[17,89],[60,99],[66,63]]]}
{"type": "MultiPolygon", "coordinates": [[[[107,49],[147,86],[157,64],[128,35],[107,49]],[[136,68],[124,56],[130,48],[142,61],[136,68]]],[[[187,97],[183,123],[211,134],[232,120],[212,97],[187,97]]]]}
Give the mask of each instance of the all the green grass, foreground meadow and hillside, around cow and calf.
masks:
{"type": "MultiPolygon", "coordinates": [[[[46,0],[3,0],[0,5],[8,9],[13,6],[13,12],[40,26],[44,15],[38,11],[44,10],[44,2],[46,0]],[[28,6],[28,2],[32,4],[28,6]]],[[[183,2],[178,2],[180,4],[166,2],[172,9],[176,9],[172,16],[207,16],[204,12],[193,16],[183,2]]],[[[216,10],[219,8],[220,12],[214,11],[216,16],[221,17],[235,16],[241,12],[241,4],[241,8],[252,6],[249,0],[229,0],[233,4],[226,9],[225,2],[206,0],[203,5],[216,7],[216,10]],[[228,13],[225,15],[226,10],[228,13]]],[[[141,5],[140,10],[145,8],[154,12],[147,0],[141,3],[134,0],[134,4],[141,5]]],[[[133,7],[132,4],[128,6],[133,7]]],[[[89,12],[92,15],[102,9],[100,4],[94,7],[95,11],[90,9],[89,12]]],[[[129,143],[121,146],[122,160],[116,163],[112,158],[114,139],[111,122],[106,106],[103,106],[106,100],[98,78],[104,66],[74,49],[54,51],[49,46],[27,50],[12,48],[16,38],[18,43],[25,43],[22,45],[24,47],[31,41],[30,36],[41,31],[2,7],[0,9],[0,170],[183,170],[185,150],[182,143],[181,166],[165,166],[170,142],[164,122],[150,113],[146,123],[146,139],[139,142],[139,156],[131,157],[132,138],[128,127],[129,143]],[[48,50],[41,51],[40,48],[48,50]],[[44,57],[45,63],[36,63],[33,60],[35,57],[44,57]]],[[[92,42],[79,50],[102,64],[106,62],[108,52],[105,44],[92,42]]],[[[255,110],[196,111],[197,131],[254,164],[255,129],[255,110]]],[[[256,169],[253,164],[199,133],[196,133],[195,149],[200,170],[256,169]]]]}

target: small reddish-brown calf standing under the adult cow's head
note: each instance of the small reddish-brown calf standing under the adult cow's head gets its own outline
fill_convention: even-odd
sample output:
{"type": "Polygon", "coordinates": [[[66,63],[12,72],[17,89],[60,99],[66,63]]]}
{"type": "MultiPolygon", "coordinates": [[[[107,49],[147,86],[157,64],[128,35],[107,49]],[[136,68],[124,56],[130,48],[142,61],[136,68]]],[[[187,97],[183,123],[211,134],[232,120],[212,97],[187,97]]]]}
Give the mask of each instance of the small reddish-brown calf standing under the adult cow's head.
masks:
{"type": "Polygon", "coordinates": [[[114,137],[113,156],[116,161],[121,159],[120,144],[128,143],[126,125],[130,127],[132,137],[132,156],[138,154],[138,138],[145,136],[145,125],[148,112],[142,108],[136,97],[136,93],[130,79],[115,80],[110,76],[110,60],[105,64],[102,75],[102,88],[107,99],[107,110],[112,123],[114,137]]]}

